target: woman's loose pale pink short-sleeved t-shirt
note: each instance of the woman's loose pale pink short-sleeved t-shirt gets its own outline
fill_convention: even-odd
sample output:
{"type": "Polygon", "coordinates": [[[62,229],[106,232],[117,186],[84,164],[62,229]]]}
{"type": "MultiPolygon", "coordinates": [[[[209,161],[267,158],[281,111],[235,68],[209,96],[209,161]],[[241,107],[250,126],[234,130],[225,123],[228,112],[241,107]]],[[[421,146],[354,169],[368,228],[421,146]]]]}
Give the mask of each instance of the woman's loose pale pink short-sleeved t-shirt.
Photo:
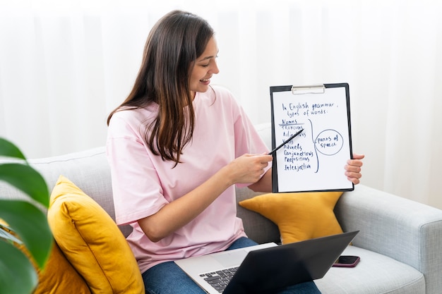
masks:
{"type": "Polygon", "coordinates": [[[182,163],[174,168],[174,162],[152,154],[143,140],[145,122],[156,116],[157,104],[118,111],[109,124],[107,158],[117,224],[133,227],[127,240],[141,272],[160,262],[225,250],[245,235],[237,218],[234,186],[196,219],[157,243],[138,226],[138,219],[195,189],[236,157],[268,152],[244,110],[224,88],[196,93],[193,108],[193,139],[184,148],[182,163]]]}

